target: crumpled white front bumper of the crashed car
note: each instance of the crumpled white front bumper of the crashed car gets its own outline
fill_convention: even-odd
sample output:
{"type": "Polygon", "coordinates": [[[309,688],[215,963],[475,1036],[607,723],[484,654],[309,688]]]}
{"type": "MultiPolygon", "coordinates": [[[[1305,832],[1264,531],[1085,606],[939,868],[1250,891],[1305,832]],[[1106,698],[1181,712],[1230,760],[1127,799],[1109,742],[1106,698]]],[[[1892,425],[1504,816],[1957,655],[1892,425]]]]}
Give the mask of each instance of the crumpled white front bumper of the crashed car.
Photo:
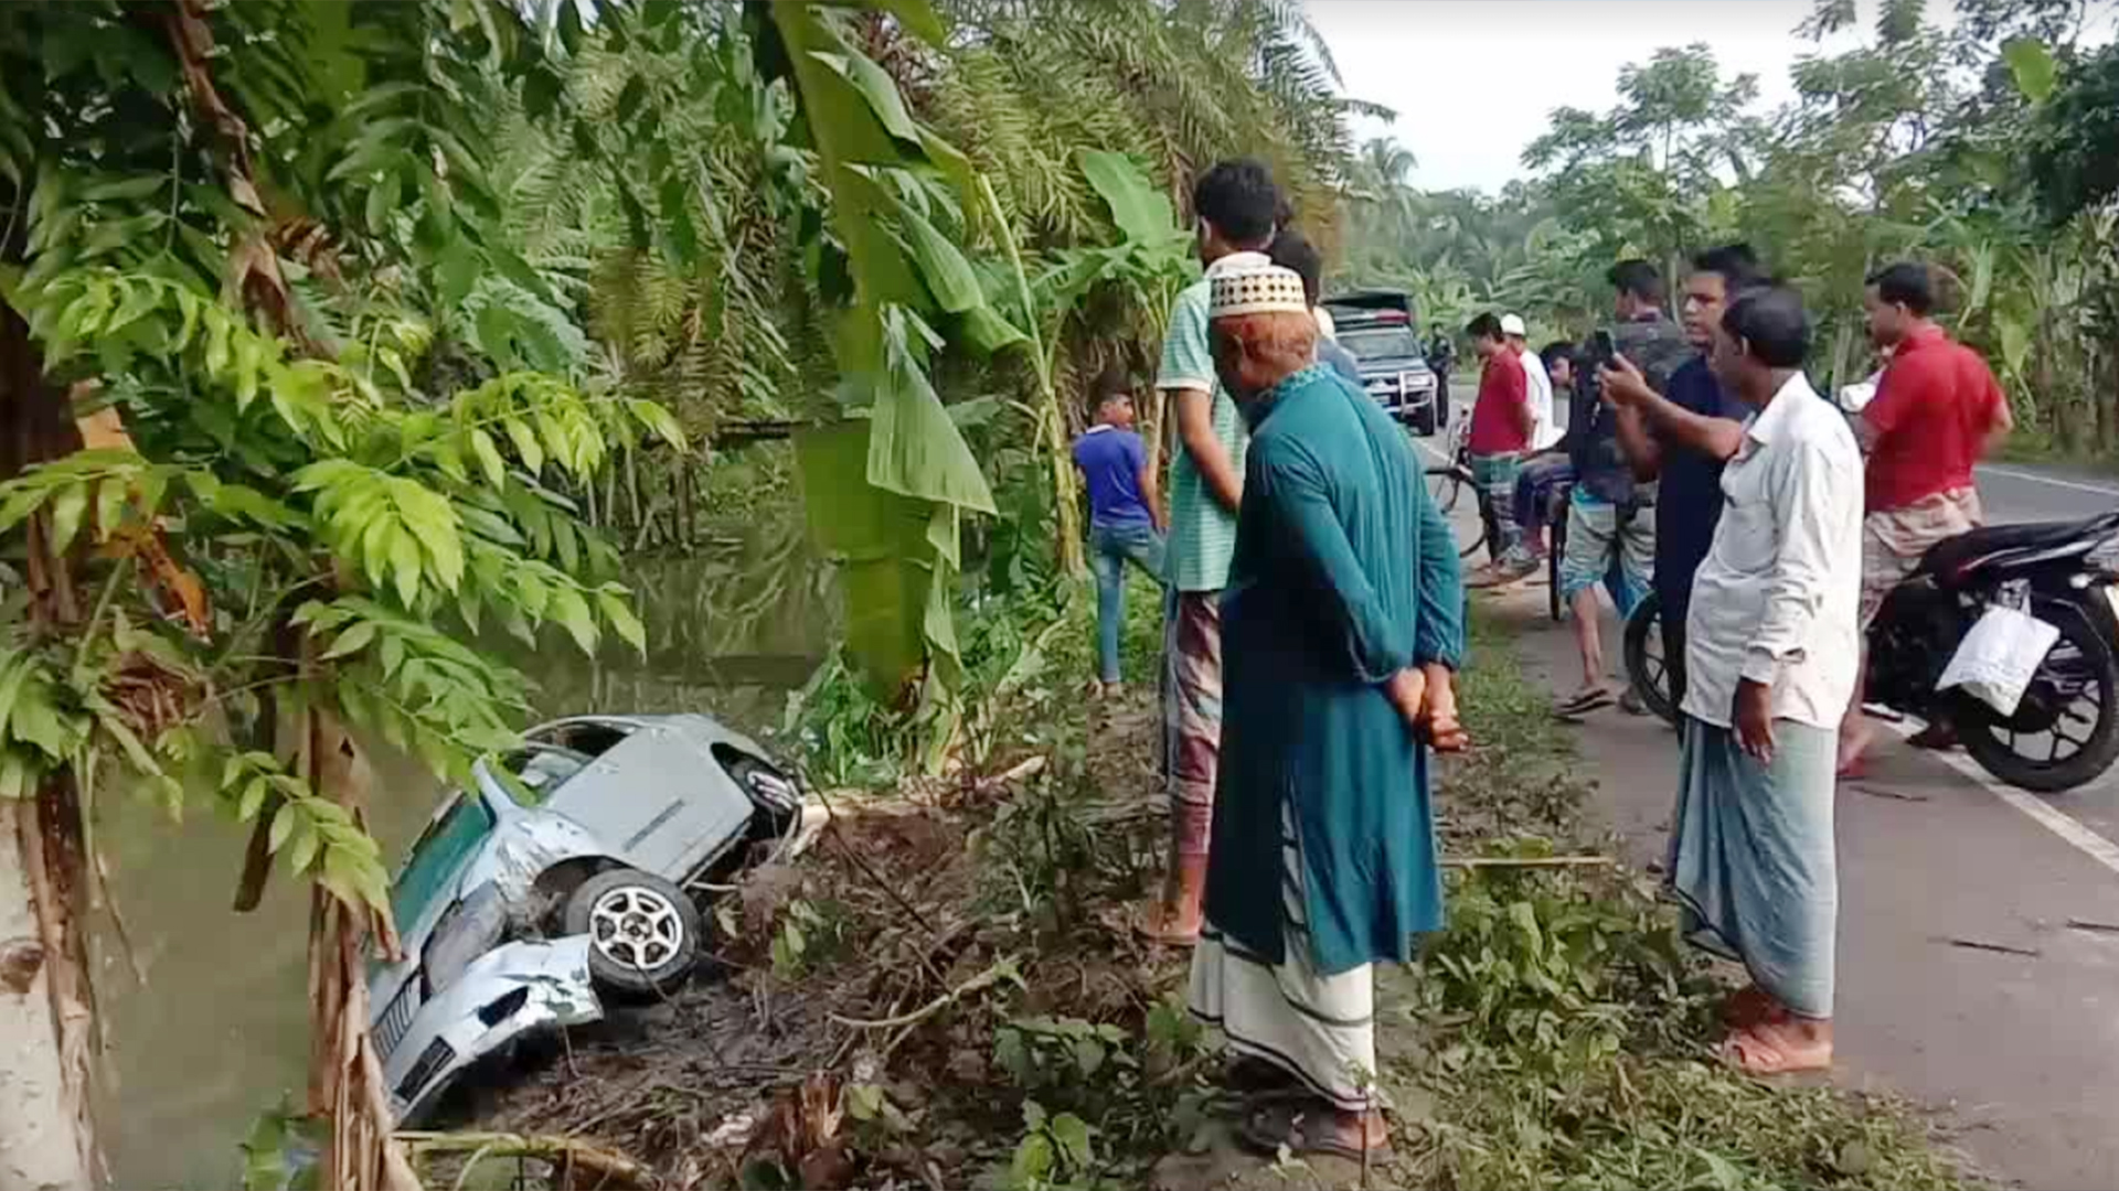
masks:
{"type": "Polygon", "coordinates": [[[377,1026],[384,1083],[400,1123],[434,1108],[470,1064],[534,1032],[583,1026],[604,1017],[589,983],[589,937],[502,943],[426,1002],[411,983],[377,1026]]]}

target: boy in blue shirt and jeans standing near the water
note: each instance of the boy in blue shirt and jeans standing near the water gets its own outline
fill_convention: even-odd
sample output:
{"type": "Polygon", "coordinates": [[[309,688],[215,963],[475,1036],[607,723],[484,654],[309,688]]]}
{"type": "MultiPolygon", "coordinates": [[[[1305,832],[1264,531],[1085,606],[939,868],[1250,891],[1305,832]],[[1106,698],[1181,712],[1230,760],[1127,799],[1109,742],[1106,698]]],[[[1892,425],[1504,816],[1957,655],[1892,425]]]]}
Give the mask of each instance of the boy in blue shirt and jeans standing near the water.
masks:
{"type": "Polygon", "coordinates": [[[1163,579],[1163,515],[1148,447],[1134,432],[1134,394],[1123,373],[1096,384],[1096,426],[1074,439],[1074,466],[1089,490],[1089,570],[1096,572],[1096,665],[1104,693],[1119,689],[1125,564],[1163,579]]]}

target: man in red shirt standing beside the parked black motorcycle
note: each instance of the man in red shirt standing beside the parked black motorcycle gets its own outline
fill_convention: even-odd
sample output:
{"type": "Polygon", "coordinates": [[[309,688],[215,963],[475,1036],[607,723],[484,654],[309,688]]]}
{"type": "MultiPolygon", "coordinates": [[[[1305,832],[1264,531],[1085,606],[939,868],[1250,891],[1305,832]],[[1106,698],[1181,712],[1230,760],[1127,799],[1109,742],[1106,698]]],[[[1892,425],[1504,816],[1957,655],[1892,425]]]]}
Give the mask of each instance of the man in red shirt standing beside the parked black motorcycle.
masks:
{"type": "MultiPolygon", "coordinates": [[[[1973,464],[2015,426],[2009,398],[1979,352],[1954,343],[1928,316],[1935,282],[1924,265],[1901,263],[1869,278],[1863,297],[1869,337],[1890,354],[1875,398],[1863,407],[1854,434],[1869,456],[1863,519],[1860,625],[1869,629],[1920,555],[1983,521],[1973,464]]],[[[1863,674],[1867,678],[1867,648],[1863,674]]],[[[1839,725],[1839,774],[1852,776],[1875,729],[1860,714],[1863,682],[1839,725]]],[[[1913,737],[1930,748],[1949,744],[1947,725],[1913,737]]]]}

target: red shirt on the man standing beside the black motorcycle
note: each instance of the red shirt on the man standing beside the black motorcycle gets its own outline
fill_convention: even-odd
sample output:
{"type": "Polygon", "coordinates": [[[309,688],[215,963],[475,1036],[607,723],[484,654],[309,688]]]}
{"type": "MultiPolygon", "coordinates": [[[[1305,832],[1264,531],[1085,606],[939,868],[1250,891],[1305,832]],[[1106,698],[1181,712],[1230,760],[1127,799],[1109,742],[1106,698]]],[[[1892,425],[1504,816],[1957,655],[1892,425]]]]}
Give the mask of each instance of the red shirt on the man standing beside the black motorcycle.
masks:
{"type": "Polygon", "coordinates": [[[1869,451],[1869,511],[1905,509],[1937,492],[1973,485],[1973,464],[2000,420],[2000,384],[1979,352],[1952,343],[1939,326],[1909,335],[1884,369],[1863,417],[1869,451]]]}

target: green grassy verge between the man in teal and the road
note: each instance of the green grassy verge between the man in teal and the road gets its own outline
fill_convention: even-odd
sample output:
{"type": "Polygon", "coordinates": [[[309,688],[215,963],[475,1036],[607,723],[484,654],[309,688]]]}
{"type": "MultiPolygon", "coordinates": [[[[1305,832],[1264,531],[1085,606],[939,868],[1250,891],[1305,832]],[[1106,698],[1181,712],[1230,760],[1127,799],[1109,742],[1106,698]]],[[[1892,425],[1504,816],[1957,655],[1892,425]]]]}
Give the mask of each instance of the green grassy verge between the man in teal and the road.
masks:
{"type": "MultiPolygon", "coordinates": [[[[1449,850],[1596,852],[1572,746],[1509,644],[1475,619],[1462,701],[1479,748],[1441,793],[1449,850]]],[[[1710,1057],[1721,985],[1655,884],[1608,869],[1454,873],[1449,926],[1409,973],[1418,1057],[1386,1064],[1437,1108],[1401,1185],[1966,1187],[1911,1106],[1769,1085],[1710,1057]]]]}

